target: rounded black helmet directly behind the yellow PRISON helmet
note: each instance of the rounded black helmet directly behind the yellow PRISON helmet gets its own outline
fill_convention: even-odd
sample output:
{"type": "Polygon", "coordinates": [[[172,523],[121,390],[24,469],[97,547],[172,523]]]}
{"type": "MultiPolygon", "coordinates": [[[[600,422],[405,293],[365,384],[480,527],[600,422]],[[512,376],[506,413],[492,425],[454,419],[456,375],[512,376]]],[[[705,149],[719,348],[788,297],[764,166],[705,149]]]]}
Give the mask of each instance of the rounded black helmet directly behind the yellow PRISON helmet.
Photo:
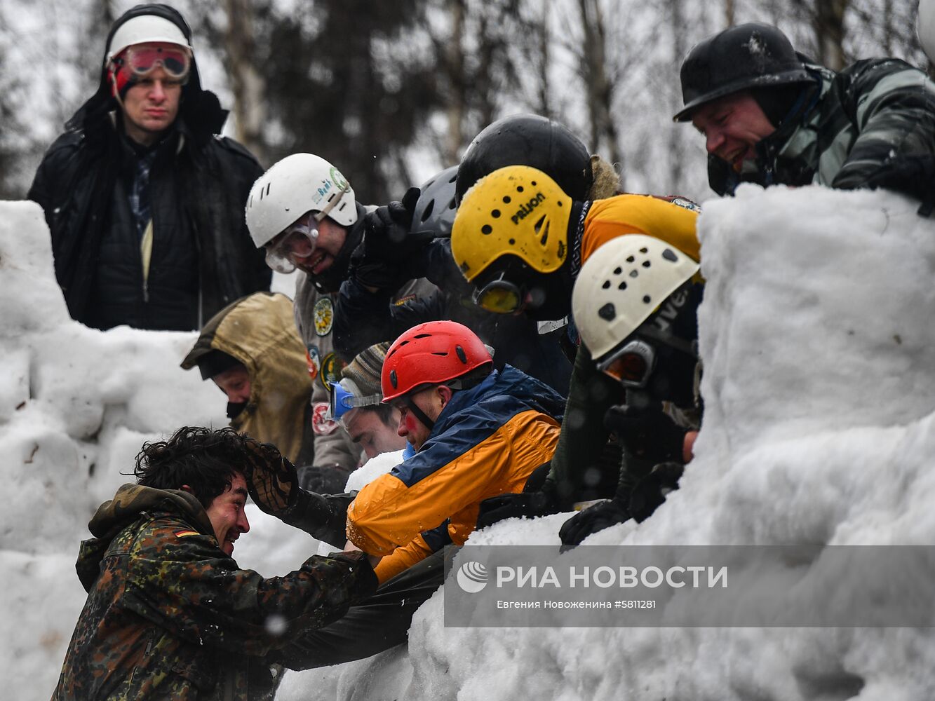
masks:
{"type": "Polygon", "coordinates": [[[530,165],[546,173],[573,200],[586,200],[594,174],[581,139],[538,114],[497,120],[470,142],[458,166],[455,199],[485,175],[507,165],[530,165]]]}

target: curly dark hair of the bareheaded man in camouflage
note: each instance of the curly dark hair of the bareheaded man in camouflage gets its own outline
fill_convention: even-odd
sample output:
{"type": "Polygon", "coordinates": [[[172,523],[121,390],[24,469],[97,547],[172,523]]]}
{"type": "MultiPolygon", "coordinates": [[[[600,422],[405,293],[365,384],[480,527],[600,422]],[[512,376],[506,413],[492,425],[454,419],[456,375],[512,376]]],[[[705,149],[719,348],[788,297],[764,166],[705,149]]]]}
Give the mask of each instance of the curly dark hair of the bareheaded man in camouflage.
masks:
{"type": "Polygon", "coordinates": [[[187,484],[202,506],[209,508],[250,465],[257,442],[233,428],[183,426],[167,440],[144,443],[137,454],[137,484],[156,489],[181,489],[187,484]]]}

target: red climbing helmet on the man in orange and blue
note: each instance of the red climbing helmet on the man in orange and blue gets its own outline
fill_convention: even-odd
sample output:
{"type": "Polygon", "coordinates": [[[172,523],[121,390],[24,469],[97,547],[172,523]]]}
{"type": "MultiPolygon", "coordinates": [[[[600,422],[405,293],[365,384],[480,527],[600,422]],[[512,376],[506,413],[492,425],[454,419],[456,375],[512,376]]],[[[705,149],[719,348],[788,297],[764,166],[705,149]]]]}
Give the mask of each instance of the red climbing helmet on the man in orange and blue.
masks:
{"type": "Polygon", "coordinates": [[[460,378],[493,362],[481,339],[464,324],[420,323],[396,338],[386,351],[380,378],[383,403],[421,385],[460,378]]]}

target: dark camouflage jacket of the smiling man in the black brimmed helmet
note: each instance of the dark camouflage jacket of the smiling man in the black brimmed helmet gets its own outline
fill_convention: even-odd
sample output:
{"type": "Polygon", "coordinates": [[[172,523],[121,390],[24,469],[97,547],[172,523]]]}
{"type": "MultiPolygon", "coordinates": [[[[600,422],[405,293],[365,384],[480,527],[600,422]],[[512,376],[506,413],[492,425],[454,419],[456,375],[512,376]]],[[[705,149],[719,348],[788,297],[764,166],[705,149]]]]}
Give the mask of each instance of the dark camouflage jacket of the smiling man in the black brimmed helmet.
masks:
{"type": "MultiPolygon", "coordinates": [[[[867,187],[907,158],[935,153],[935,83],[898,59],[858,61],[835,73],[806,64],[815,86],[741,173],[717,156],[708,179],[719,194],[741,182],[867,187]]],[[[910,192],[910,194],[913,194],[910,192]]]]}

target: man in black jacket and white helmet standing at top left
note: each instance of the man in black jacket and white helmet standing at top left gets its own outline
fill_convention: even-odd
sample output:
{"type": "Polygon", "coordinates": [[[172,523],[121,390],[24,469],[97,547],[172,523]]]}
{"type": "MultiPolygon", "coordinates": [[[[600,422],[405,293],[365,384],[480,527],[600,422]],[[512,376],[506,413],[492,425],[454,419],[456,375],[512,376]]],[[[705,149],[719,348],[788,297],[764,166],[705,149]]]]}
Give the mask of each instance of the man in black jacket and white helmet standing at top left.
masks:
{"type": "Polygon", "coordinates": [[[216,136],[226,116],[201,88],[179,12],[138,5],[114,22],[97,92],[66,122],[29,191],[45,210],[73,319],[193,330],[269,289],[243,215],[262,168],[216,136]]]}

